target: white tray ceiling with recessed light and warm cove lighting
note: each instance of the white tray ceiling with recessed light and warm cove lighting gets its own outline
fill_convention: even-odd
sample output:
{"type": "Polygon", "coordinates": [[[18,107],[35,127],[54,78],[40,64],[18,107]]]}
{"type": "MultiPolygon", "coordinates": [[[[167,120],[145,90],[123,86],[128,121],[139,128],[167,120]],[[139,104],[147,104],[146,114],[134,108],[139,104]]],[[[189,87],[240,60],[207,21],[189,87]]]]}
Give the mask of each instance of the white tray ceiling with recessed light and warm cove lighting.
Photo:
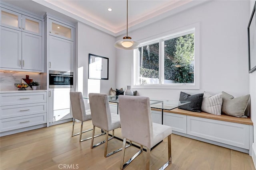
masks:
{"type": "MultiPolygon", "coordinates": [[[[188,8],[202,1],[128,0],[128,27],[136,29],[181,11],[181,7],[188,8]]],[[[48,12],[58,17],[61,13],[114,36],[126,31],[126,0],[6,0],[4,2],[39,16],[48,12]],[[109,12],[108,8],[112,8],[112,11],[109,12]]]]}

